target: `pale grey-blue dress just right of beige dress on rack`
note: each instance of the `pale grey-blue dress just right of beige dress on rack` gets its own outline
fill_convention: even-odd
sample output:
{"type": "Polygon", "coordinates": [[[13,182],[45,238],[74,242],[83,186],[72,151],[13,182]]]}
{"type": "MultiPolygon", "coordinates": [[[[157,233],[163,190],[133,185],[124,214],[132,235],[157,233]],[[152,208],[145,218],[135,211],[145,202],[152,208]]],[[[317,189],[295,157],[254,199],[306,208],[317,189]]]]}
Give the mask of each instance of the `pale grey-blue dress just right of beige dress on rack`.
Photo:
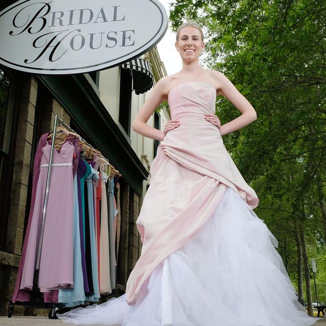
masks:
{"type": "Polygon", "coordinates": [[[109,180],[109,238],[110,238],[110,275],[111,275],[111,288],[115,288],[115,241],[114,241],[114,216],[118,210],[114,208],[114,178],[109,180]]]}

